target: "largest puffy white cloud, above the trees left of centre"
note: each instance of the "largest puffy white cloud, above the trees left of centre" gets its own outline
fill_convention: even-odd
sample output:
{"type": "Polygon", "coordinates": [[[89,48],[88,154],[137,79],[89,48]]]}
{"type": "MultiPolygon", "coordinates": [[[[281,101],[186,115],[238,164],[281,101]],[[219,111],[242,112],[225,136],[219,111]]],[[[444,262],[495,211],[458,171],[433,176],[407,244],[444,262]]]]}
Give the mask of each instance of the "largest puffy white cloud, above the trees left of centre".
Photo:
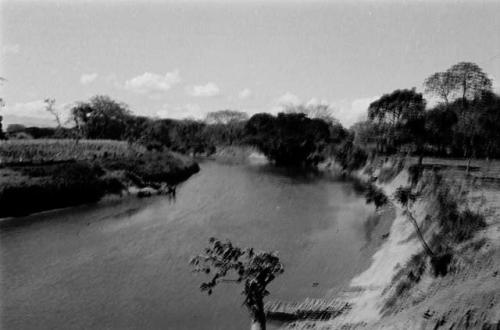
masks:
{"type": "Polygon", "coordinates": [[[174,85],[181,81],[179,71],[175,70],[160,75],[151,72],[145,72],[140,76],[125,81],[125,89],[139,93],[164,93],[170,90],[174,85]]]}

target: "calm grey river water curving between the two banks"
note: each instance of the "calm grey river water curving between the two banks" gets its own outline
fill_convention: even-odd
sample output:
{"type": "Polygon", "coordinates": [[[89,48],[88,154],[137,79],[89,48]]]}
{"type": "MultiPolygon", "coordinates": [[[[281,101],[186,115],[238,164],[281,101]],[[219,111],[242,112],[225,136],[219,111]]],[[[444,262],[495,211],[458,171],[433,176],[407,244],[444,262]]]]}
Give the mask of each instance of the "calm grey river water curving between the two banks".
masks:
{"type": "Polygon", "coordinates": [[[204,162],[175,201],[127,198],[4,220],[2,329],[246,329],[240,288],[212,296],[190,256],[209,237],[277,250],[270,298],[322,297],[367,266],[372,206],[345,182],[204,162]],[[314,282],[317,284],[313,285],[314,282]]]}

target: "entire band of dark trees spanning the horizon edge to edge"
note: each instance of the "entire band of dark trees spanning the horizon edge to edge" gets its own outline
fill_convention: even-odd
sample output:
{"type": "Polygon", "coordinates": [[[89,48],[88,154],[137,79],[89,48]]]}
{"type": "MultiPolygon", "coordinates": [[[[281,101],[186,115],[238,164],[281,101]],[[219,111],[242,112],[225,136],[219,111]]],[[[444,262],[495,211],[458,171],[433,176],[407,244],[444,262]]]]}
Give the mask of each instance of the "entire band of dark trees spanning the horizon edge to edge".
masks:
{"type": "Polygon", "coordinates": [[[13,138],[112,139],[140,143],[150,150],[211,154],[221,145],[253,145],[281,165],[314,166],[333,156],[344,169],[362,166],[368,157],[403,153],[420,158],[500,157],[500,96],[474,63],[461,62],[429,76],[425,93],[437,98],[431,108],[422,93],[398,89],[367,109],[367,120],[342,127],[328,106],[290,106],[271,115],[222,110],[205,120],[135,116],[124,103],[94,96],[71,109],[72,127],[61,125],[54,100],[47,111],[57,127],[10,125],[13,138]]]}

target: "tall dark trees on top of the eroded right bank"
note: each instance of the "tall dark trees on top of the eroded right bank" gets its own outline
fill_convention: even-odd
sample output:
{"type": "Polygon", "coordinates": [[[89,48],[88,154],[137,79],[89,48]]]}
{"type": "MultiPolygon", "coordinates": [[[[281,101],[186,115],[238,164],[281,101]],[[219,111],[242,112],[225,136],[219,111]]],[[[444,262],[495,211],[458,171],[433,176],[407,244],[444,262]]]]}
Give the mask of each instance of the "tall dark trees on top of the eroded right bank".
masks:
{"type": "Polygon", "coordinates": [[[372,102],[368,120],[352,127],[355,143],[370,154],[500,157],[500,97],[474,63],[458,63],[424,82],[439,98],[432,108],[415,89],[396,90],[372,102]]]}

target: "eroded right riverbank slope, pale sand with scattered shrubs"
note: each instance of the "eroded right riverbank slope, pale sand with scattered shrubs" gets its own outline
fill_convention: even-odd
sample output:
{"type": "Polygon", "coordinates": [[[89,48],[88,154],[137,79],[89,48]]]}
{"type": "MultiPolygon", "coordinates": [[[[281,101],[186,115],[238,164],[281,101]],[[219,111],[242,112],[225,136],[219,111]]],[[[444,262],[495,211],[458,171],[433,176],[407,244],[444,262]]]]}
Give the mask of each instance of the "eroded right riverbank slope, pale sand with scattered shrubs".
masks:
{"type": "MultiPolygon", "coordinates": [[[[419,180],[422,193],[411,212],[427,242],[439,252],[439,242],[449,240],[442,229],[443,187],[456,198],[454,226],[465,226],[461,241],[449,244],[450,260],[442,274],[423,253],[415,228],[405,209],[395,203],[396,218],[387,240],[373,256],[371,266],[351,280],[350,288],[337,295],[351,304],[351,310],[325,322],[303,321],[288,325],[293,329],[496,329],[500,322],[500,187],[498,178],[466,175],[457,166],[442,166],[439,172],[427,164],[419,180]],[[441,177],[439,184],[431,180],[441,177]],[[440,197],[441,196],[441,197],[440,197]],[[485,225],[469,228],[474,212],[485,225]],[[441,224],[440,224],[441,223],[441,224]]],[[[395,160],[370,165],[355,173],[358,178],[394,196],[410,185],[409,164],[395,160]],[[403,165],[403,166],[401,166],[403,165]]],[[[488,168],[489,170],[489,168],[488,168]]],[[[481,171],[476,171],[476,173],[481,171]]],[[[449,235],[448,235],[449,236],[449,235]]],[[[439,252],[441,253],[441,252],[439,252]]]]}

